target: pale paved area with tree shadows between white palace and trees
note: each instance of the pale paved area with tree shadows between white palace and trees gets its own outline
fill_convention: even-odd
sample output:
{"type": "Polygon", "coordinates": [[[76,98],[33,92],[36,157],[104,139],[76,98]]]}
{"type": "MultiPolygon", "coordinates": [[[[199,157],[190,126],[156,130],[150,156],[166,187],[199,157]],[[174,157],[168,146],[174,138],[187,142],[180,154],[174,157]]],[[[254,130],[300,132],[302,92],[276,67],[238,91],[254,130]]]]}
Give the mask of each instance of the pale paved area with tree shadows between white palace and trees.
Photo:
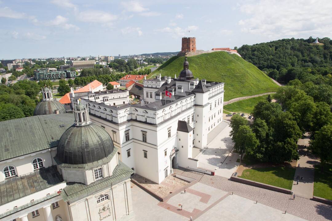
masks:
{"type": "Polygon", "coordinates": [[[232,130],[231,127],[225,122],[223,124],[221,132],[219,128],[215,128],[210,132],[215,134],[216,137],[208,144],[207,149],[199,155],[198,164],[199,167],[204,169],[214,170],[216,168],[216,175],[229,178],[239,166],[236,160],[240,157],[238,153],[232,152],[234,143],[229,136],[229,132],[232,130]]]}

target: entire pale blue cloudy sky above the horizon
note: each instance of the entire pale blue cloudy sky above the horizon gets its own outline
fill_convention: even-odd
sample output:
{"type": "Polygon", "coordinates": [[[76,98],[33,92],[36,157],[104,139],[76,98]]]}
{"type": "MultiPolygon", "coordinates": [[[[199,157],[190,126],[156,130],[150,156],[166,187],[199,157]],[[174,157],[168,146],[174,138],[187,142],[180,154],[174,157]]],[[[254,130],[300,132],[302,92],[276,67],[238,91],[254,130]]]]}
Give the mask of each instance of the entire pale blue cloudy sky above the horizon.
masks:
{"type": "Polygon", "coordinates": [[[332,38],[332,0],[0,0],[0,59],[118,56],[332,38]]]}

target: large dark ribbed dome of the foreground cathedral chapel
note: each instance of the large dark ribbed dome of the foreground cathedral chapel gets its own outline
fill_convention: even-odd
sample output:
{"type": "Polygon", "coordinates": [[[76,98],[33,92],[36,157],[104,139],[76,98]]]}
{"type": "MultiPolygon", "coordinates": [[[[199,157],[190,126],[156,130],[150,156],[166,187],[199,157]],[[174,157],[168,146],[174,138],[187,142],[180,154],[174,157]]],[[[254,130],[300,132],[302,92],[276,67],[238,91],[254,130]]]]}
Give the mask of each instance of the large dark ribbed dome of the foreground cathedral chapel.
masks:
{"type": "Polygon", "coordinates": [[[87,164],[109,156],[113,150],[110,135],[99,125],[73,125],[61,136],[56,158],[65,164],[87,164]]]}

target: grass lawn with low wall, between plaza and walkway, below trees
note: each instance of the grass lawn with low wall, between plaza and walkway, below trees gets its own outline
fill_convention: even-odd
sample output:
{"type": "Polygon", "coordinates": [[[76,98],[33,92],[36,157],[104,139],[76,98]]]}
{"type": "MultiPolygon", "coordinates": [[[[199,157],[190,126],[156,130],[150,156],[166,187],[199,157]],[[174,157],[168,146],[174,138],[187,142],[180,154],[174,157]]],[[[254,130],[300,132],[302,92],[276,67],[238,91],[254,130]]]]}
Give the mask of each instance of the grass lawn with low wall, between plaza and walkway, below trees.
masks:
{"type": "Polygon", "coordinates": [[[293,167],[264,167],[245,169],[239,177],[291,190],[294,174],[293,167]]]}

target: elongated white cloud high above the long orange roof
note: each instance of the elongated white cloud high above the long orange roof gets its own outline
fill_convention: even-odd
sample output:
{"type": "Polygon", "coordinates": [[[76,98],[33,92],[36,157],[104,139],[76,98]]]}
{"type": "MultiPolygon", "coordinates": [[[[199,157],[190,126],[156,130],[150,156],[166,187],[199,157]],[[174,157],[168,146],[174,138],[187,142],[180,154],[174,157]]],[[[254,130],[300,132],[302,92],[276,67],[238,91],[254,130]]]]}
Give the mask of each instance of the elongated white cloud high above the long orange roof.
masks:
{"type": "Polygon", "coordinates": [[[91,23],[111,23],[118,19],[118,16],[112,15],[104,11],[88,10],[80,12],[77,15],[77,19],[81,22],[91,23]]]}

